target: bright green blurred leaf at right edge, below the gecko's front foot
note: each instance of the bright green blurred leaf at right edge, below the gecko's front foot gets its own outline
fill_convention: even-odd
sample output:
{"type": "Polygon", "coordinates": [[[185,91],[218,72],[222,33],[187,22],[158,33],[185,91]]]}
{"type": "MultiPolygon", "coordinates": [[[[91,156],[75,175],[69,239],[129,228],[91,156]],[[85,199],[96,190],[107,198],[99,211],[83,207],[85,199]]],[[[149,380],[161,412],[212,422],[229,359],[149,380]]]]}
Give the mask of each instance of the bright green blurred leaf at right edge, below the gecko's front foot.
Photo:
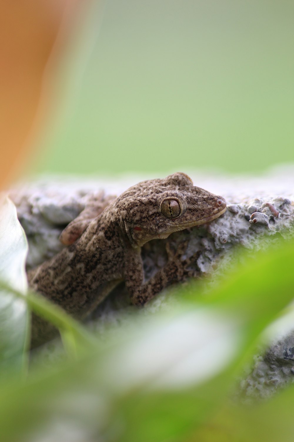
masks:
{"type": "MultiPolygon", "coordinates": [[[[239,264],[215,282],[216,288],[195,293],[195,283],[182,291],[182,301],[220,309],[238,321],[249,348],[261,331],[286,312],[293,300],[294,240],[281,240],[265,251],[237,259],[239,264]],[[249,344],[250,343],[250,344],[249,344]]],[[[240,348],[242,363],[246,346],[240,348]]]]}

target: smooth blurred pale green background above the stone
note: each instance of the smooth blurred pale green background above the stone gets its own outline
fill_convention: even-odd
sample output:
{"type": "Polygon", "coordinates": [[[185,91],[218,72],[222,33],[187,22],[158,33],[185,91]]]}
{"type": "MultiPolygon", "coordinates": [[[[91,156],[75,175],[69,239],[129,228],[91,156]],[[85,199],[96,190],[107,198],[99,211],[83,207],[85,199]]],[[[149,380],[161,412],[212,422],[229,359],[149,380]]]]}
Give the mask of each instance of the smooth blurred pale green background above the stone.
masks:
{"type": "Polygon", "coordinates": [[[294,161],[293,23],[286,0],[94,2],[30,172],[294,161]]]}

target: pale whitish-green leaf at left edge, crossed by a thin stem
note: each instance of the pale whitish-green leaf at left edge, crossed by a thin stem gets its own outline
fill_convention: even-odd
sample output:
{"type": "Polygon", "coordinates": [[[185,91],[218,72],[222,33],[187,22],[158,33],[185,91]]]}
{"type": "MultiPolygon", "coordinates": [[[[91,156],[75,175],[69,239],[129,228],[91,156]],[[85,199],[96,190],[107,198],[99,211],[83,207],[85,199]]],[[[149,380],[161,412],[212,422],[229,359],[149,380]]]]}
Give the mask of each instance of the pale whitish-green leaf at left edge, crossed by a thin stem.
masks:
{"type": "MultiPolygon", "coordinates": [[[[28,245],[14,204],[0,194],[0,282],[25,293],[28,245]]],[[[0,372],[19,371],[24,362],[28,312],[26,301],[0,288],[0,372]]]]}

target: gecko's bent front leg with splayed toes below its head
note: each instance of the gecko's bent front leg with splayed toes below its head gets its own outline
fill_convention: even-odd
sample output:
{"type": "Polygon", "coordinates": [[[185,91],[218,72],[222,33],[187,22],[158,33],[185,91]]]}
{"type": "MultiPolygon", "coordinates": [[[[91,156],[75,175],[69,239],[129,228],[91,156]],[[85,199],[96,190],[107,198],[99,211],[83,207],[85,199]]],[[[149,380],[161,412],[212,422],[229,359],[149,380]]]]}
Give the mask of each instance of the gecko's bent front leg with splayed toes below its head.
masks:
{"type": "Polygon", "coordinates": [[[133,249],[128,253],[125,261],[124,279],[134,305],[145,304],[173,282],[181,282],[186,278],[200,275],[198,271],[188,270],[189,265],[195,262],[200,252],[195,253],[190,258],[183,259],[182,255],[186,250],[186,246],[187,242],[183,242],[173,254],[169,245],[167,245],[167,264],[147,282],[144,282],[140,248],[133,249]]]}

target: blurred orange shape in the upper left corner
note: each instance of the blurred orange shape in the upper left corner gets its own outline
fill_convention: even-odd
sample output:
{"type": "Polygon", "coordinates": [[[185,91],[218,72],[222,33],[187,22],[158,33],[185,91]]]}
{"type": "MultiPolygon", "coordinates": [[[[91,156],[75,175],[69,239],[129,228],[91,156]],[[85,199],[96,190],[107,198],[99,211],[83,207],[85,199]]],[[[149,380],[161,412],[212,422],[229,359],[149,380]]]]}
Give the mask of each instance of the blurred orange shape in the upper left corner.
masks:
{"type": "Polygon", "coordinates": [[[0,188],[20,170],[44,124],[52,79],[44,83],[45,70],[54,73],[87,3],[0,0],[0,188]]]}

